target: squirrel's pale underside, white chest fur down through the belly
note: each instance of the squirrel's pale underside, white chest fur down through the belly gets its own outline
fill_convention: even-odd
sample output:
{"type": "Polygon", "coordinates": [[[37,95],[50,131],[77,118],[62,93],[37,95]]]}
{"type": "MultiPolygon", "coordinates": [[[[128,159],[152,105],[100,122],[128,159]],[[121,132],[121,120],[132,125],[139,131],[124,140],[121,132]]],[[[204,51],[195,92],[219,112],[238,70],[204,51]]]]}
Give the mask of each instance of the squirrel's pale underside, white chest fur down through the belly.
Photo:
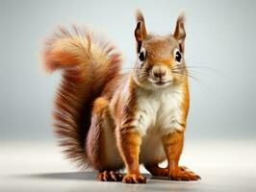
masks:
{"type": "Polygon", "coordinates": [[[184,130],[178,123],[182,118],[183,99],[184,92],[180,87],[155,92],[138,90],[138,112],[134,123],[142,135],[141,163],[166,159],[161,137],[175,130],[184,130]]]}

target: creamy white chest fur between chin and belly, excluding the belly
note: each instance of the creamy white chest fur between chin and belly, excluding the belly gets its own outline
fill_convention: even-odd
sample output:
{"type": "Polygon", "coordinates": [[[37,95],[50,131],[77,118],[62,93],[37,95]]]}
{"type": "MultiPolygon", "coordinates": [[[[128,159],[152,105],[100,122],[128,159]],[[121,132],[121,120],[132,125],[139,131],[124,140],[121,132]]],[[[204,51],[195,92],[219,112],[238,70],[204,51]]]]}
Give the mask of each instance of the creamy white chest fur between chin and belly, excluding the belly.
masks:
{"type": "Polygon", "coordinates": [[[181,103],[184,92],[180,87],[159,91],[137,91],[138,113],[136,127],[141,135],[164,135],[175,130],[182,131],[181,103]]]}

